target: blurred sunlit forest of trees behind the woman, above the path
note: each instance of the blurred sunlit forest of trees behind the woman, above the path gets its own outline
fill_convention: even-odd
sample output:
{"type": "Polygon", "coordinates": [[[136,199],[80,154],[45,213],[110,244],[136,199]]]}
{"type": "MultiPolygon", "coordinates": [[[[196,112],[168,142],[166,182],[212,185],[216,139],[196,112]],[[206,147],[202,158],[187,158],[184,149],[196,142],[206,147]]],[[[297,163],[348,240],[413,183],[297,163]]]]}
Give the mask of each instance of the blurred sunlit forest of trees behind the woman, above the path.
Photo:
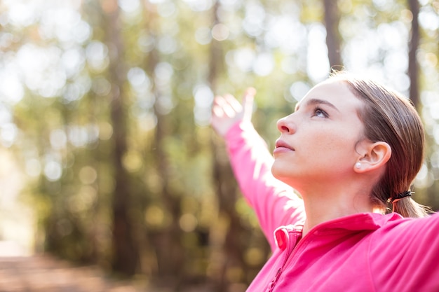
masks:
{"type": "Polygon", "coordinates": [[[276,120],[345,68],[410,97],[439,209],[439,1],[0,1],[0,239],[117,277],[245,291],[269,256],[209,126],[257,89],[276,120]]]}

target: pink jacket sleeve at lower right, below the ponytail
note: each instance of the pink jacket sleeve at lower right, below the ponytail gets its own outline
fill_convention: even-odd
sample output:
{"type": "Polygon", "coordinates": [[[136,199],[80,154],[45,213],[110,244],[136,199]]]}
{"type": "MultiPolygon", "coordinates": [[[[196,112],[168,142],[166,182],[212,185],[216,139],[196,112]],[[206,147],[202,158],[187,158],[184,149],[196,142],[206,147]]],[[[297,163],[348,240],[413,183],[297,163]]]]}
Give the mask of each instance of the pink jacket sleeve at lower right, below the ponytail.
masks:
{"type": "Polygon", "coordinates": [[[404,218],[377,234],[370,258],[379,291],[439,291],[439,214],[404,218]],[[381,289],[381,290],[380,290],[381,289]]]}

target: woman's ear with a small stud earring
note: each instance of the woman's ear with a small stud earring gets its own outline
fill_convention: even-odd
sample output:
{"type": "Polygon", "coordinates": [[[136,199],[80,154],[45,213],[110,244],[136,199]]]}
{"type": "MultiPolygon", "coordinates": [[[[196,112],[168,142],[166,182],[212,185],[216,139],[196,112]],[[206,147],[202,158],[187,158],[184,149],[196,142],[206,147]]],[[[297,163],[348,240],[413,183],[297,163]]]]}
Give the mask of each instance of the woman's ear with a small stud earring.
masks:
{"type": "Polygon", "coordinates": [[[363,151],[363,156],[358,158],[361,166],[353,167],[357,173],[370,172],[383,167],[392,155],[390,145],[381,141],[368,144],[363,148],[363,151]]]}

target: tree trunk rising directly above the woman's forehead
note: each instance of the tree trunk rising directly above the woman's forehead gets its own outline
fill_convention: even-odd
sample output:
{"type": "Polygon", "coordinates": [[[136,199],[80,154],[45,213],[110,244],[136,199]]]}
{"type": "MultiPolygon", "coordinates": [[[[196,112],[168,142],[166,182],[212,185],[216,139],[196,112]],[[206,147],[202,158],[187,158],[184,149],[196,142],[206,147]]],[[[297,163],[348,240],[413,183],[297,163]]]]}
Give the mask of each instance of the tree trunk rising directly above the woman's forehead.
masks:
{"type": "Polygon", "coordinates": [[[329,58],[330,68],[334,69],[343,66],[340,55],[340,15],[337,0],[323,0],[323,6],[325,7],[327,57],[329,58]]]}

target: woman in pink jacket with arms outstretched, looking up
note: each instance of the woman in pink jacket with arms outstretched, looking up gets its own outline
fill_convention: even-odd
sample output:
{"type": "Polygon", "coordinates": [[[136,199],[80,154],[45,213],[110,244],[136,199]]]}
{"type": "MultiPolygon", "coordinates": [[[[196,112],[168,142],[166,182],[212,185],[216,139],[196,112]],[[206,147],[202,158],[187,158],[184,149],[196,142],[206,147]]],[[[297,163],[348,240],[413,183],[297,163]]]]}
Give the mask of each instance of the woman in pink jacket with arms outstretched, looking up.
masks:
{"type": "Polygon", "coordinates": [[[410,102],[335,74],[278,120],[271,155],[250,122],[254,95],[212,107],[273,252],[248,291],[439,291],[439,217],[410,197],[424,148],[410,102]]]}

